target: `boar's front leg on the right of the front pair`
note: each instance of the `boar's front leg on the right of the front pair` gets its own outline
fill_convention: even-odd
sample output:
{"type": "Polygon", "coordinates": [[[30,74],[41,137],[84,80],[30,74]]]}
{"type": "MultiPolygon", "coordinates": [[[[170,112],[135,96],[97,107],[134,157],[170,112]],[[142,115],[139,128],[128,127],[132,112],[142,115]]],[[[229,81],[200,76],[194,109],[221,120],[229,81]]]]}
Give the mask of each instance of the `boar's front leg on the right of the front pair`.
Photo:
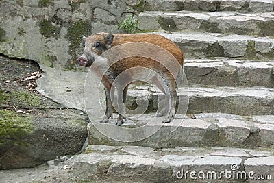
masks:
{"type": "Polygon", "coordinates": [[[117,103],[118,103],[119,116],[118,116],[118,119],[117,119],[117,122],[115,123],[115,125],[119,125],[119,126],[123,123],[124,119],[127,120],[125,117],[124,105],[125,105],[125,100],[127,98],[128,85],[125,86],[125,88],[123,86],[125,86],[125,85],[119,85],[117,87],[117,93],[118,93],[117,103]],[[123,94],[121,95],[121,93],[123,93],[123,94]]]}

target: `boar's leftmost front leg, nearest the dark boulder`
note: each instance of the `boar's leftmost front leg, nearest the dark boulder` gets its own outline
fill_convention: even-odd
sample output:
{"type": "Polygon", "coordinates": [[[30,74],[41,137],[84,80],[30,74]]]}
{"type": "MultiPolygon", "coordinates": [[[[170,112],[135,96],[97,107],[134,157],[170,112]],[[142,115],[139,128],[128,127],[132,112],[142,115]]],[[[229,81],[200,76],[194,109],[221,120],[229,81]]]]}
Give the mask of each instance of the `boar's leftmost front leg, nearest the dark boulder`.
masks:
{"type": "Polygon", "coordinates": [[[113,117],[113,110],[112,110],[112,101],[114,97],[114,86],[110,86],[110,88],[105,87],[105,98],[106,98],[106,110],[105,110],[105,116],[100,121],[101,123],[108,123],[109,118],[113,117]]]}

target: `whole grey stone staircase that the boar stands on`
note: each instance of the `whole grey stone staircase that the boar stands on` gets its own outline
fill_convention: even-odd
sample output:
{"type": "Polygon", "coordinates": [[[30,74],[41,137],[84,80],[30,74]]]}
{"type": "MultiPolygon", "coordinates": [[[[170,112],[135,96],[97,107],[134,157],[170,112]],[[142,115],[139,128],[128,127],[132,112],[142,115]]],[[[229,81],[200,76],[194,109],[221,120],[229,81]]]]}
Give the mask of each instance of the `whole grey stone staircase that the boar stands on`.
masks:
{"type": "MultiPolygon", "coordinates": [[[[172,124],[163,125],[152,113],[128,114],[121,127],[90,123],[90,145],[75,160],[75,177],[105,182],[274,182],[273,4],[272,0],[145,1],[140,31],[165,36],[184,51],[188,114],[176,116],[175,121],[182,123],[176,123],[174,132],[172,124]],[[151,119],[155,121],[149,123],[151,119]],[[114,141],[98,131],[101,127],[121,136],[121,128],[142,125],[147,127],[144,133],[160,130],[132,142],[114,141]],[[195,178],[190,174],[185,178],[183,169],[195,171],[195,178]],[[203,173],[213,171],[255,174],[203,178],[203,173]]],[[[136,98],[148,100],[150,112],[158,106],[158,96],[149,86],[130,88],[129,108],[136,98]]]]}

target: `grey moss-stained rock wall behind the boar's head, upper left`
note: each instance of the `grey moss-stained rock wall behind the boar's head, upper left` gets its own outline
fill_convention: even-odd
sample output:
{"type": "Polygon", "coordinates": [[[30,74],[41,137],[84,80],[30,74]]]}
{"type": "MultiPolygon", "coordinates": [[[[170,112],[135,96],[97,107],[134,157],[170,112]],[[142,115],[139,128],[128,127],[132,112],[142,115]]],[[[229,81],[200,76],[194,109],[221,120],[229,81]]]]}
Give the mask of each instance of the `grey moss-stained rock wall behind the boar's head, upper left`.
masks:
{"type": "Polygon", "coordinates": [[[75,70],[82,35],[119,32],[144,0],[0,1],[0,53],[54,68],[75,70]]]}

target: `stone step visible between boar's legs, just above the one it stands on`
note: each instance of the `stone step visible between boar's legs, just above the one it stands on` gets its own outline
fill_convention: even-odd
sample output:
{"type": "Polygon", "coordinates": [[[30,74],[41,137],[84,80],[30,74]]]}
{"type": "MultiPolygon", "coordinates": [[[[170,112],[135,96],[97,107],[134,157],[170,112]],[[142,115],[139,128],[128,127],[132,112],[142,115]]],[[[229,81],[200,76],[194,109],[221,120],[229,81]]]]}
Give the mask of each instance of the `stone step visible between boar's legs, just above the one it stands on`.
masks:
{"type": "MultiPolygon", "coordinates": [[[[164,95],[153,86],[148,88],[129,88],[126,106],[128,112],[156,112],[158,98],[160,107],[163,106],[164,95]],[[136,109],[138,103],[140,109],[136,109]]],[[[188,113],[227,112],[239,115],[274,114],[274,88],[264,87],[219,87],[219,86],[190,86],[179,88],[177,101],[188,105],[188,113]],[[188,103],[189,99],[189,103],[188,103]]],[[[115,100],[114,100],[114,103],[115,100]]],[[[114,104],[115,106],[115,104],[114,104]]],[[[178,113],[182,113],[179,110],[178,113]]],[[[184,111],[185,112],[185,111],[184,111]]],[[[183,113],[184,113],[183,112],[183,113]]]]}

